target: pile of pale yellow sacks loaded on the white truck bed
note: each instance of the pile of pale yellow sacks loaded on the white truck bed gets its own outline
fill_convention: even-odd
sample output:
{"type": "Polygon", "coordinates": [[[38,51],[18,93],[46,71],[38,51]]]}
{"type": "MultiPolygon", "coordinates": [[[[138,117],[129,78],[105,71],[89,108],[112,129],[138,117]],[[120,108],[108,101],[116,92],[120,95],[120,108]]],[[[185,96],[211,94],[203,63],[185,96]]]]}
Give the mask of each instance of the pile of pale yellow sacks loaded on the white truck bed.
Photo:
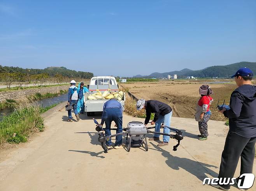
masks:
{"type": "Polygon", "coordinates": [[[97,93],[94,93],[92,95],[88,96],[88,100],[110,100],[115,98],[116,100],[123,100],[124,97],[124,93],[123,91],[119,91],[119,92],[111,92],[111,91],[104,91],[103,93],[101,93],[100,91],[97,91],[97,93]]]}

